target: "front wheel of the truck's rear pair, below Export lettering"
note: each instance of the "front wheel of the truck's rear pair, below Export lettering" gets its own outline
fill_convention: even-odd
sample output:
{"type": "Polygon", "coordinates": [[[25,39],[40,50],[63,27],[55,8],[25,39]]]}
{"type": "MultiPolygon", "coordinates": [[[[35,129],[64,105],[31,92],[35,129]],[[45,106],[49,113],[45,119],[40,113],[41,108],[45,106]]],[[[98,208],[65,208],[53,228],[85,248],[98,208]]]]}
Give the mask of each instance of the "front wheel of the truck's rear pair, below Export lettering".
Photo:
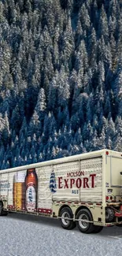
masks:
{"type": "Polygon", "coordinates": [[[70,210],[68,207],[65,207],[61,210],[60,217],[62,217],[62,219],[60,219],[62,228],[65,228],[65,229],[68,229],[68,230],[76,228],[76,222],[75,221],[64,219],[66,217],[73,218],[72,210],[70,210]]]}

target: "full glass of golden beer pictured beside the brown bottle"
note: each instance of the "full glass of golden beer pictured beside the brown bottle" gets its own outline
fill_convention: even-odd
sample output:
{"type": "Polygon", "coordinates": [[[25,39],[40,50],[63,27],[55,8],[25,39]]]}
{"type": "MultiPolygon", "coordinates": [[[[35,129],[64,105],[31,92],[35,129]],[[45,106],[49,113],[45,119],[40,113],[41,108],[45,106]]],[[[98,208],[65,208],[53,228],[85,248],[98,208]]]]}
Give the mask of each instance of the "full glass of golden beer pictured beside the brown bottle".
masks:
{"type": "Polygon", "coordinates": [[[25,171],[13,176],[13,206],[15,210],[24,210],[24,180],[25,171]]]}

